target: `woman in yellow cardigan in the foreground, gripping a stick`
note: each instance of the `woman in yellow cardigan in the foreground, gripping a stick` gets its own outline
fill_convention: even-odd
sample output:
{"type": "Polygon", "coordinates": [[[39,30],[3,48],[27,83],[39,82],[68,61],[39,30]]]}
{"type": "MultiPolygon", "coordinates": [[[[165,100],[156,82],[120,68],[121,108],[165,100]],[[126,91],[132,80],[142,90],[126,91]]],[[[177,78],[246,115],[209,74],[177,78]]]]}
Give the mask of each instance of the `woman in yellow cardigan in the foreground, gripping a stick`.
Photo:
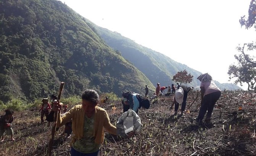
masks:
{"type": "Polygon", "coordinates": [[[74,106],[63,116],[60,116],[63,104],[55,103],[54,111],[58,113],[57,127],[73,119],[71,156],[97,156],[100,144],[104,141],[104,128],[110,134],[117,135],[117,128],[110,123],[107,111],[97,106],[99,102],[99,94],[87,89],[82,95],[82,105],[74,106]]]}

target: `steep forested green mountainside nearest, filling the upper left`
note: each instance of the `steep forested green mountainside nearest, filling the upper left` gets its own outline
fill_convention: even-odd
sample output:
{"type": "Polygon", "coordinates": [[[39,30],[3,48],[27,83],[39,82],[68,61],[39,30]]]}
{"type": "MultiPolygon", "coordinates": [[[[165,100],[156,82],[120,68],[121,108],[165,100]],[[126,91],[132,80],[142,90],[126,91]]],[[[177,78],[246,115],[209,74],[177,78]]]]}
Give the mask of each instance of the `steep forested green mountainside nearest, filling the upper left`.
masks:
{"type": "Polygon", "coordinates": [[[61,81],[64,96],[154,88],[94,31],[60,1],[0,1],[0,100],[45,97],[61,81]]]}

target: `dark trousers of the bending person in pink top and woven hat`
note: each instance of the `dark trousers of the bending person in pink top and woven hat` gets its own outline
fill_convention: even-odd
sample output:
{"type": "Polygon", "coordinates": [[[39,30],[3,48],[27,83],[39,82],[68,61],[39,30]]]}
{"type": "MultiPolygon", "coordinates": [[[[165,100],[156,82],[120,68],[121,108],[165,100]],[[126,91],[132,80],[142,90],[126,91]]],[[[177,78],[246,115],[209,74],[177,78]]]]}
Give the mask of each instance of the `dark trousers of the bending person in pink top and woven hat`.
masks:
{"type": "Polygon", "coordinates": [[[199,110],[199,114],[197,117],[198,121],[203,120],[204,115],[206,114],[206,111],[207,111],[206,119],[211,119],[214,105],[217,102],[217,100],[220,98],[220,95],[221,95],[221,92],[217,91],[204,96],[200,110],[199,110]]]}

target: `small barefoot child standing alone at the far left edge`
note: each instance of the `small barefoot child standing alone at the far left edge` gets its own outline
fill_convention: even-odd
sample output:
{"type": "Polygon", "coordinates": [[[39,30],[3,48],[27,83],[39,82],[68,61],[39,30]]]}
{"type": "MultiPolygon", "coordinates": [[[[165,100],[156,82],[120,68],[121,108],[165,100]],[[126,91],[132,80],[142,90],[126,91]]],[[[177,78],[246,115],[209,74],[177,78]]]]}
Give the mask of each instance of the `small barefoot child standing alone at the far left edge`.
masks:
{"type": "Polygon", "coordinates": [[[5,115],[0,116],[0,142],[4,141],[3,134],[6,132],[7,135],[11,135],[11,140],[14,141],[13,138],[13,128],[11,123],[13,122],[13,110],[5,110],[5,115]]]}

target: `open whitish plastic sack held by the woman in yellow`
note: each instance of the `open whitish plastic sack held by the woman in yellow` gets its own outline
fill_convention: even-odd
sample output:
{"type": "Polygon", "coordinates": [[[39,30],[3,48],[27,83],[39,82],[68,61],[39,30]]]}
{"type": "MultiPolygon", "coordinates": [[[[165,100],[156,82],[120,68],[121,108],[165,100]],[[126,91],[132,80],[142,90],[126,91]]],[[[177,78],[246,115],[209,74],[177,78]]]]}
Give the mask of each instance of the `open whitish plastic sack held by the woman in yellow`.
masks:
{"type": "Polygon", "coordinates": [[[139,132],[141,129],[141,118],[133,110],[128,110],[117,120],[117,135],[127,137],[131,131],[139,132]]]}

